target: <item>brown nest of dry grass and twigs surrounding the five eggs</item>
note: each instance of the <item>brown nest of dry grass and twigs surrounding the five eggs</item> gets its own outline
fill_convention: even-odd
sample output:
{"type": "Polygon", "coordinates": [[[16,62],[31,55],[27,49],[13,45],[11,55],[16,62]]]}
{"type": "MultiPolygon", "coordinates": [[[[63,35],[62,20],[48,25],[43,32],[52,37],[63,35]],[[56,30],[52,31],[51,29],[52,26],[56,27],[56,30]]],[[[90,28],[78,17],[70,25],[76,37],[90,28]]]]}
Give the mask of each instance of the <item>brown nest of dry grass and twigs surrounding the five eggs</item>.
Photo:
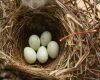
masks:
{"type": "MultiPolygon", "coordinates": [[[[86,3],[86,2],[85,2],[86,3]]],[[[100,77],[100,24],[88,8],[82,10],[69,1],[57,2],[41,9],[21,7],[0,32],[0,62],[5,69],[22,75],[46,80],[92,80],[100,77]],[[90,21],[90,22],[89,22],[90,21]],[[60,45],[59,56],[46,64],[28,65],[23,49],[32,34],[50,31],[60,45]],[[97,66],[96,66],[97,65],[97,66]]],[[[95,6],[95,5],[94,5],[95,6]]],[[[87,6],[86,6],[87,7],[87,6]]]]}

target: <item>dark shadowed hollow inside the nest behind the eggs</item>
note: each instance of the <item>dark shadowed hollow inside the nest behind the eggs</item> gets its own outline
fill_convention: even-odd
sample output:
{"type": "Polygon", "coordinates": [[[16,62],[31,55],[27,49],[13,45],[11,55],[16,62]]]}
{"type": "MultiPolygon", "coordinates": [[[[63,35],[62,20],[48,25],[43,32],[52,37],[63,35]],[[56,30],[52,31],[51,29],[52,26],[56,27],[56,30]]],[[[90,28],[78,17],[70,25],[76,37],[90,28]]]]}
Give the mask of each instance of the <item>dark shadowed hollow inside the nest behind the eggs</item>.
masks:
{"type": "MultiPolygon", "coordinates": [[[[20,21],[17,20],[17,24],[13,28],[13,38],[17,41],[16,46],[20,54],[23,54],[23,49],[29,46],[28,39],[31,35],[36,34],[40,37],[41,33],[44,31],[50,31],[52,34],[52,40],[57,41],[60,45],[60,57],[60,54],[64,49],[64,44],[60,43],[59,40],[65,35],[65,30],[59,19],[45,13],[34,13],[33,15],[27,15],[24,17],[19,16],[17,19],[20,19],[20,21]]],[[[49,59],[46,64],[52,64],[53,61],[54,60],[49,59]]],[[[36,61],[36,64],[39,63],[36,61]]]]}

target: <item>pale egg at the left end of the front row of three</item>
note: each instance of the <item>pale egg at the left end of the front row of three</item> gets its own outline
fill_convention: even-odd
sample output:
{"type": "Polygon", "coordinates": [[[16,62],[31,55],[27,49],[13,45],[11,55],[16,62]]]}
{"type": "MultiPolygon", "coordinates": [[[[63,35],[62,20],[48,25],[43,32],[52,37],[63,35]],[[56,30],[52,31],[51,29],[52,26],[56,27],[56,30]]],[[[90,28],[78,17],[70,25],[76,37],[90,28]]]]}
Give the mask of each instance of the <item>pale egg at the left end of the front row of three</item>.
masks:
{"type": "Polygon", "coordinates": [[[24,58],[27,63],[33,64],[36,61],[36,52],[30,47],[25,47],[24,58]]]}

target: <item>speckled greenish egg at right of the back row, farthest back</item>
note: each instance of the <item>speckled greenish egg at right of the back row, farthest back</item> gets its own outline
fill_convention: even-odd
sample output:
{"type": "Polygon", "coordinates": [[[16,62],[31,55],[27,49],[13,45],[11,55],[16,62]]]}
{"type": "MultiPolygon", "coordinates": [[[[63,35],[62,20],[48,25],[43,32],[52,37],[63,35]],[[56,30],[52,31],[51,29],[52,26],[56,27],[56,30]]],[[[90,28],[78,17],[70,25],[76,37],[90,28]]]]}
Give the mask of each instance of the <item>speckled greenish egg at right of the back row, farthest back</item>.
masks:
{"type": "Polygon", "coordinates": [[[41,45],[42,46],[47,46],[48,43],[52,40],[52,35],[49,31],[45,31],[41,34],[41,37],[40,37],[40,40],[41,40],[41,45]]]}

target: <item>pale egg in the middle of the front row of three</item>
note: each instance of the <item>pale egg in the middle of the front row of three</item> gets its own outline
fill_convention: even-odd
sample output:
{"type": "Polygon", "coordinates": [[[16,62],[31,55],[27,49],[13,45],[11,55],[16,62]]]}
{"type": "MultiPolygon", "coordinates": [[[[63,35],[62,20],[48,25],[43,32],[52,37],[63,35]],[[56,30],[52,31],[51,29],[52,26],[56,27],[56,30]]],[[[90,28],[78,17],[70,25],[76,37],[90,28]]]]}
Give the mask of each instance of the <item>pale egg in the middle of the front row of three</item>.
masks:
{"type": "Polygon", "coordinates": [[[41,46],[37,51],[37,60],[40,63],[46,63],[48,60],[48,53],[44,46],[41,46]]]}

